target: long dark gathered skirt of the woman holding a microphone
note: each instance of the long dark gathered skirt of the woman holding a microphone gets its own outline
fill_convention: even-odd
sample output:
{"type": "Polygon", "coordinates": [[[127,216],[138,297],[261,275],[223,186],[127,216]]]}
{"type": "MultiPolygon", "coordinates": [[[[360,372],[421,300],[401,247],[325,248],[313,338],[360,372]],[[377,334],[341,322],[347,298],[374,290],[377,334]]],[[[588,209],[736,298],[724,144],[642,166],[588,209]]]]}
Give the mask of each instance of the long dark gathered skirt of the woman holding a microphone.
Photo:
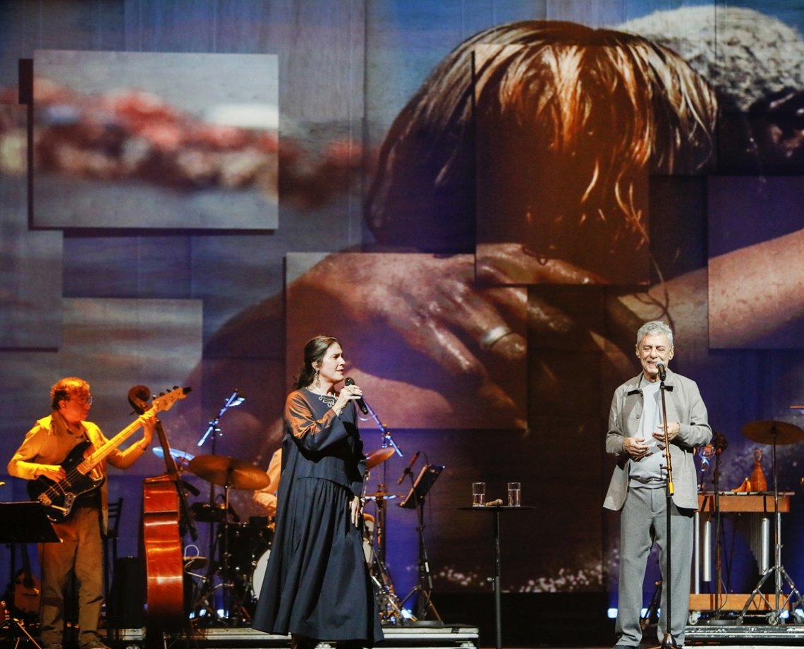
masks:
{"type": "Polygon", "coordinates": [[[350,492],[314,478],[290,488],[252,627],[372,647],[383,634],[350,492]]]}

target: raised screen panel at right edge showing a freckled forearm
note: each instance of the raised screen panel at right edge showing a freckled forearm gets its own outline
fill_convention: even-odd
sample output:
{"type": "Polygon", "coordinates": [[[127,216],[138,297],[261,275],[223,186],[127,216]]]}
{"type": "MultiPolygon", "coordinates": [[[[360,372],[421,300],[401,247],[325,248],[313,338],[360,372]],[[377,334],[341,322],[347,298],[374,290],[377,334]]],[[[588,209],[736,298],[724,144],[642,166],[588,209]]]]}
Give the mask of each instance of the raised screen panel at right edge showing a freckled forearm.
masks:
{"type": "Polygon", "coordinates": [[[802,349],[804,177],[712,177],[708,202],[709,345],[802,349]]]}

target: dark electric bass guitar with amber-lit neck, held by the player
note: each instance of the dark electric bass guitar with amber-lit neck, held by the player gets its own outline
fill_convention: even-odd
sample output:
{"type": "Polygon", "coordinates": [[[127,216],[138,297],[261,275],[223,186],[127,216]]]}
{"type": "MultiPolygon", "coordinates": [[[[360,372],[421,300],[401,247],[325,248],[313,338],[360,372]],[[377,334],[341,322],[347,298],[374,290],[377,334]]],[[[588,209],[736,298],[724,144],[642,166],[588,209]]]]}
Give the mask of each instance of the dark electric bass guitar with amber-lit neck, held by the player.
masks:
{"type": "MultiPolygon", "coordinates": [[[[154,397],[147,413],[160,413],[170,410],[177,400],[187,398],[191,388],[173,388],[170,392],[154,397]]],[[[54,523],[67,520],[72,506],[80,495],[99,489],[105,483],[106,476],[96,466],[103,462],[109,454],[133,435],[142,426],[139,419],[127,425],[112,439],[100,448],[91,450],[92,442],[81,442],[68,454],[61,466],[67,476],[55,482],[43,475],[28,481],[28,495],[39,500],[47,511],[47,517],[54,523]]]]}

